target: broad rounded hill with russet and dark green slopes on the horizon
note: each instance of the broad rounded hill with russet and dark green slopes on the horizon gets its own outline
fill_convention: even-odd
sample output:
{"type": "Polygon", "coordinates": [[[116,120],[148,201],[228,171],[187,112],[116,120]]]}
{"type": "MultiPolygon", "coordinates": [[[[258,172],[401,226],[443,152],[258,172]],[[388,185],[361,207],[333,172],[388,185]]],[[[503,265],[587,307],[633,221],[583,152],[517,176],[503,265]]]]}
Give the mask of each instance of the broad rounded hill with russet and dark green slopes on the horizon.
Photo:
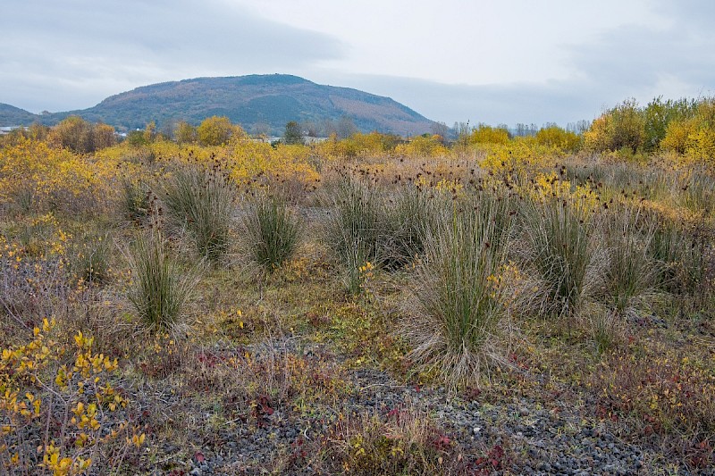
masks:
{"type": "Polygon", "coordinates": [[[429,132],[433,125],[433,121],[389,97],[319,85],[297,76],[268,74],[153,84],[107,97],[88,109],[41,116],[2,104],[0,126],[32,121],[54,124],[71,114],[119,129],[143,128],[149,121],[156,121],[159,129],[171,121],[198,124],[213,115],[227,116],[248,131],[257,124],[267,124],[273,132],[282,132],[288,121],[320,123],[344,117],[364,132],[379,130],[403,136],[429,132]]]}

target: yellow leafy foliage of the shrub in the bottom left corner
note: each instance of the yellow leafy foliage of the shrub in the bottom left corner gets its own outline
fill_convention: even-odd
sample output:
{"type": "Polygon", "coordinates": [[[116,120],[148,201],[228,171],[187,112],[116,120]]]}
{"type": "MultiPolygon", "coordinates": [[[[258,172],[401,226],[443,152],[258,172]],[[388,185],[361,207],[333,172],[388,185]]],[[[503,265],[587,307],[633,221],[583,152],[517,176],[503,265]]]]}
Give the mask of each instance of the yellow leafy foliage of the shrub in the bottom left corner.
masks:
{"type": "MultiPolygon", "coordinates": [[[[62,476],[88,472],[92,465],[88,455],[94,454],[88,450],[106,448],[105,451],[111,452],[112,443],[120,434],[135,447],[140,447],[145,437],[136,428],[130,430],[123,413],[118,413],[129,401],[109,383],[117,371],[117,361],[95,354],[93,339],[78,332],[74,338],[74,364],[61,364],[65,349],[52,337],[55,326],[54,319],[45,319],[41,329],[33,330],[33,337],[27,344],[2,350],[0,419],[9,424],[0,427],[0,438],[8,443],[4,451],[17,455],[17,461],[29,464],[34,458],[28,455],[20,458],[21,452],[28,449],[22,445],[23,439],[41,433],[49,424],[46,419],[63,422],[64,418],[57,430],[59,434],[53,433],[53,438],[37,448],[42,455],[39,466],[62,476]],[[55,379],[47,378],[53,374],[55,379]],[[53,413],[64,413],[59,402],[67,405],[71,419],[53,413]],[[117,414],[113,414],[115,412],[117,414]],[[13,434],[13,438],[4,438],[9,434],[13,434]]],[[[32,451],[36,451],[35,447],[32,451]]],[[[8,469],[4,467],[4,470],[8,469]]],[[[21,469],[34,473],[39,468],[25,466],[21,469]]]]}

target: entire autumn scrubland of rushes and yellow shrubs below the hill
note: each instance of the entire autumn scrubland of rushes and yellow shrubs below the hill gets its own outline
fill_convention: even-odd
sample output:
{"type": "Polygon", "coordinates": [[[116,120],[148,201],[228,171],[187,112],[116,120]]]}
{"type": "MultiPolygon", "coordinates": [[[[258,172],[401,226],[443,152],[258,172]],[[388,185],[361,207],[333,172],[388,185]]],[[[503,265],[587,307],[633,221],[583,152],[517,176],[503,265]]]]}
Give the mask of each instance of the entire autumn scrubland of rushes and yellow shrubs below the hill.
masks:
{"type": "Polygon", "coordinates": [[[713,114],[2,138],[0,473],[712,472],[713,114]]]}

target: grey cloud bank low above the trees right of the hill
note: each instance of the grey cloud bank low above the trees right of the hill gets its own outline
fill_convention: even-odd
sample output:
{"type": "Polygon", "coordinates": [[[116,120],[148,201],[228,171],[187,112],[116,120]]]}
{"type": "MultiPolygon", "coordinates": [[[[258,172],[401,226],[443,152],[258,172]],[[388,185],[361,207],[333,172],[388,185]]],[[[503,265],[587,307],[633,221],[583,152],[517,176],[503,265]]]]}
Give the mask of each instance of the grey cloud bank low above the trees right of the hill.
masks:
{"type": "Polygon", "coordinates": [[[662,1],[656,11],[670,21],[657,26],[623,26],[593,42],[566,46],[574,74],[545,83],[447,85],[429,81],[360,76],[343,78],[352,87],[391,96],[435,121],[516,122],[561,125],[591,120],[627,97],[646,103],[653,96],[715,93],[715,2],[662,1]],[[669,88],[669,83],[670,88],[669,88]],[[665,89],[664,89],[665,88],[665,89]],[[666,90],[669,89],[669,90],[666,90]]]}

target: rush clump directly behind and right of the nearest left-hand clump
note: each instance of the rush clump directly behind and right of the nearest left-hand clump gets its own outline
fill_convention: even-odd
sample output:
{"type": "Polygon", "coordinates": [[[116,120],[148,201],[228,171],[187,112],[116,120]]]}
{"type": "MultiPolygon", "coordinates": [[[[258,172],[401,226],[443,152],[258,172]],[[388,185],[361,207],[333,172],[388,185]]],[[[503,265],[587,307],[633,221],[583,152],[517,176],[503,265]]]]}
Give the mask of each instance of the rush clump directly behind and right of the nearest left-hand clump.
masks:
{"type": "Polygon", "coordinates": [[[218,263],[231,244],[235,190],[217,167],[188,166],[164,187],[164,204],[174,227],[188,231],[198,254],[218,263]]]}

